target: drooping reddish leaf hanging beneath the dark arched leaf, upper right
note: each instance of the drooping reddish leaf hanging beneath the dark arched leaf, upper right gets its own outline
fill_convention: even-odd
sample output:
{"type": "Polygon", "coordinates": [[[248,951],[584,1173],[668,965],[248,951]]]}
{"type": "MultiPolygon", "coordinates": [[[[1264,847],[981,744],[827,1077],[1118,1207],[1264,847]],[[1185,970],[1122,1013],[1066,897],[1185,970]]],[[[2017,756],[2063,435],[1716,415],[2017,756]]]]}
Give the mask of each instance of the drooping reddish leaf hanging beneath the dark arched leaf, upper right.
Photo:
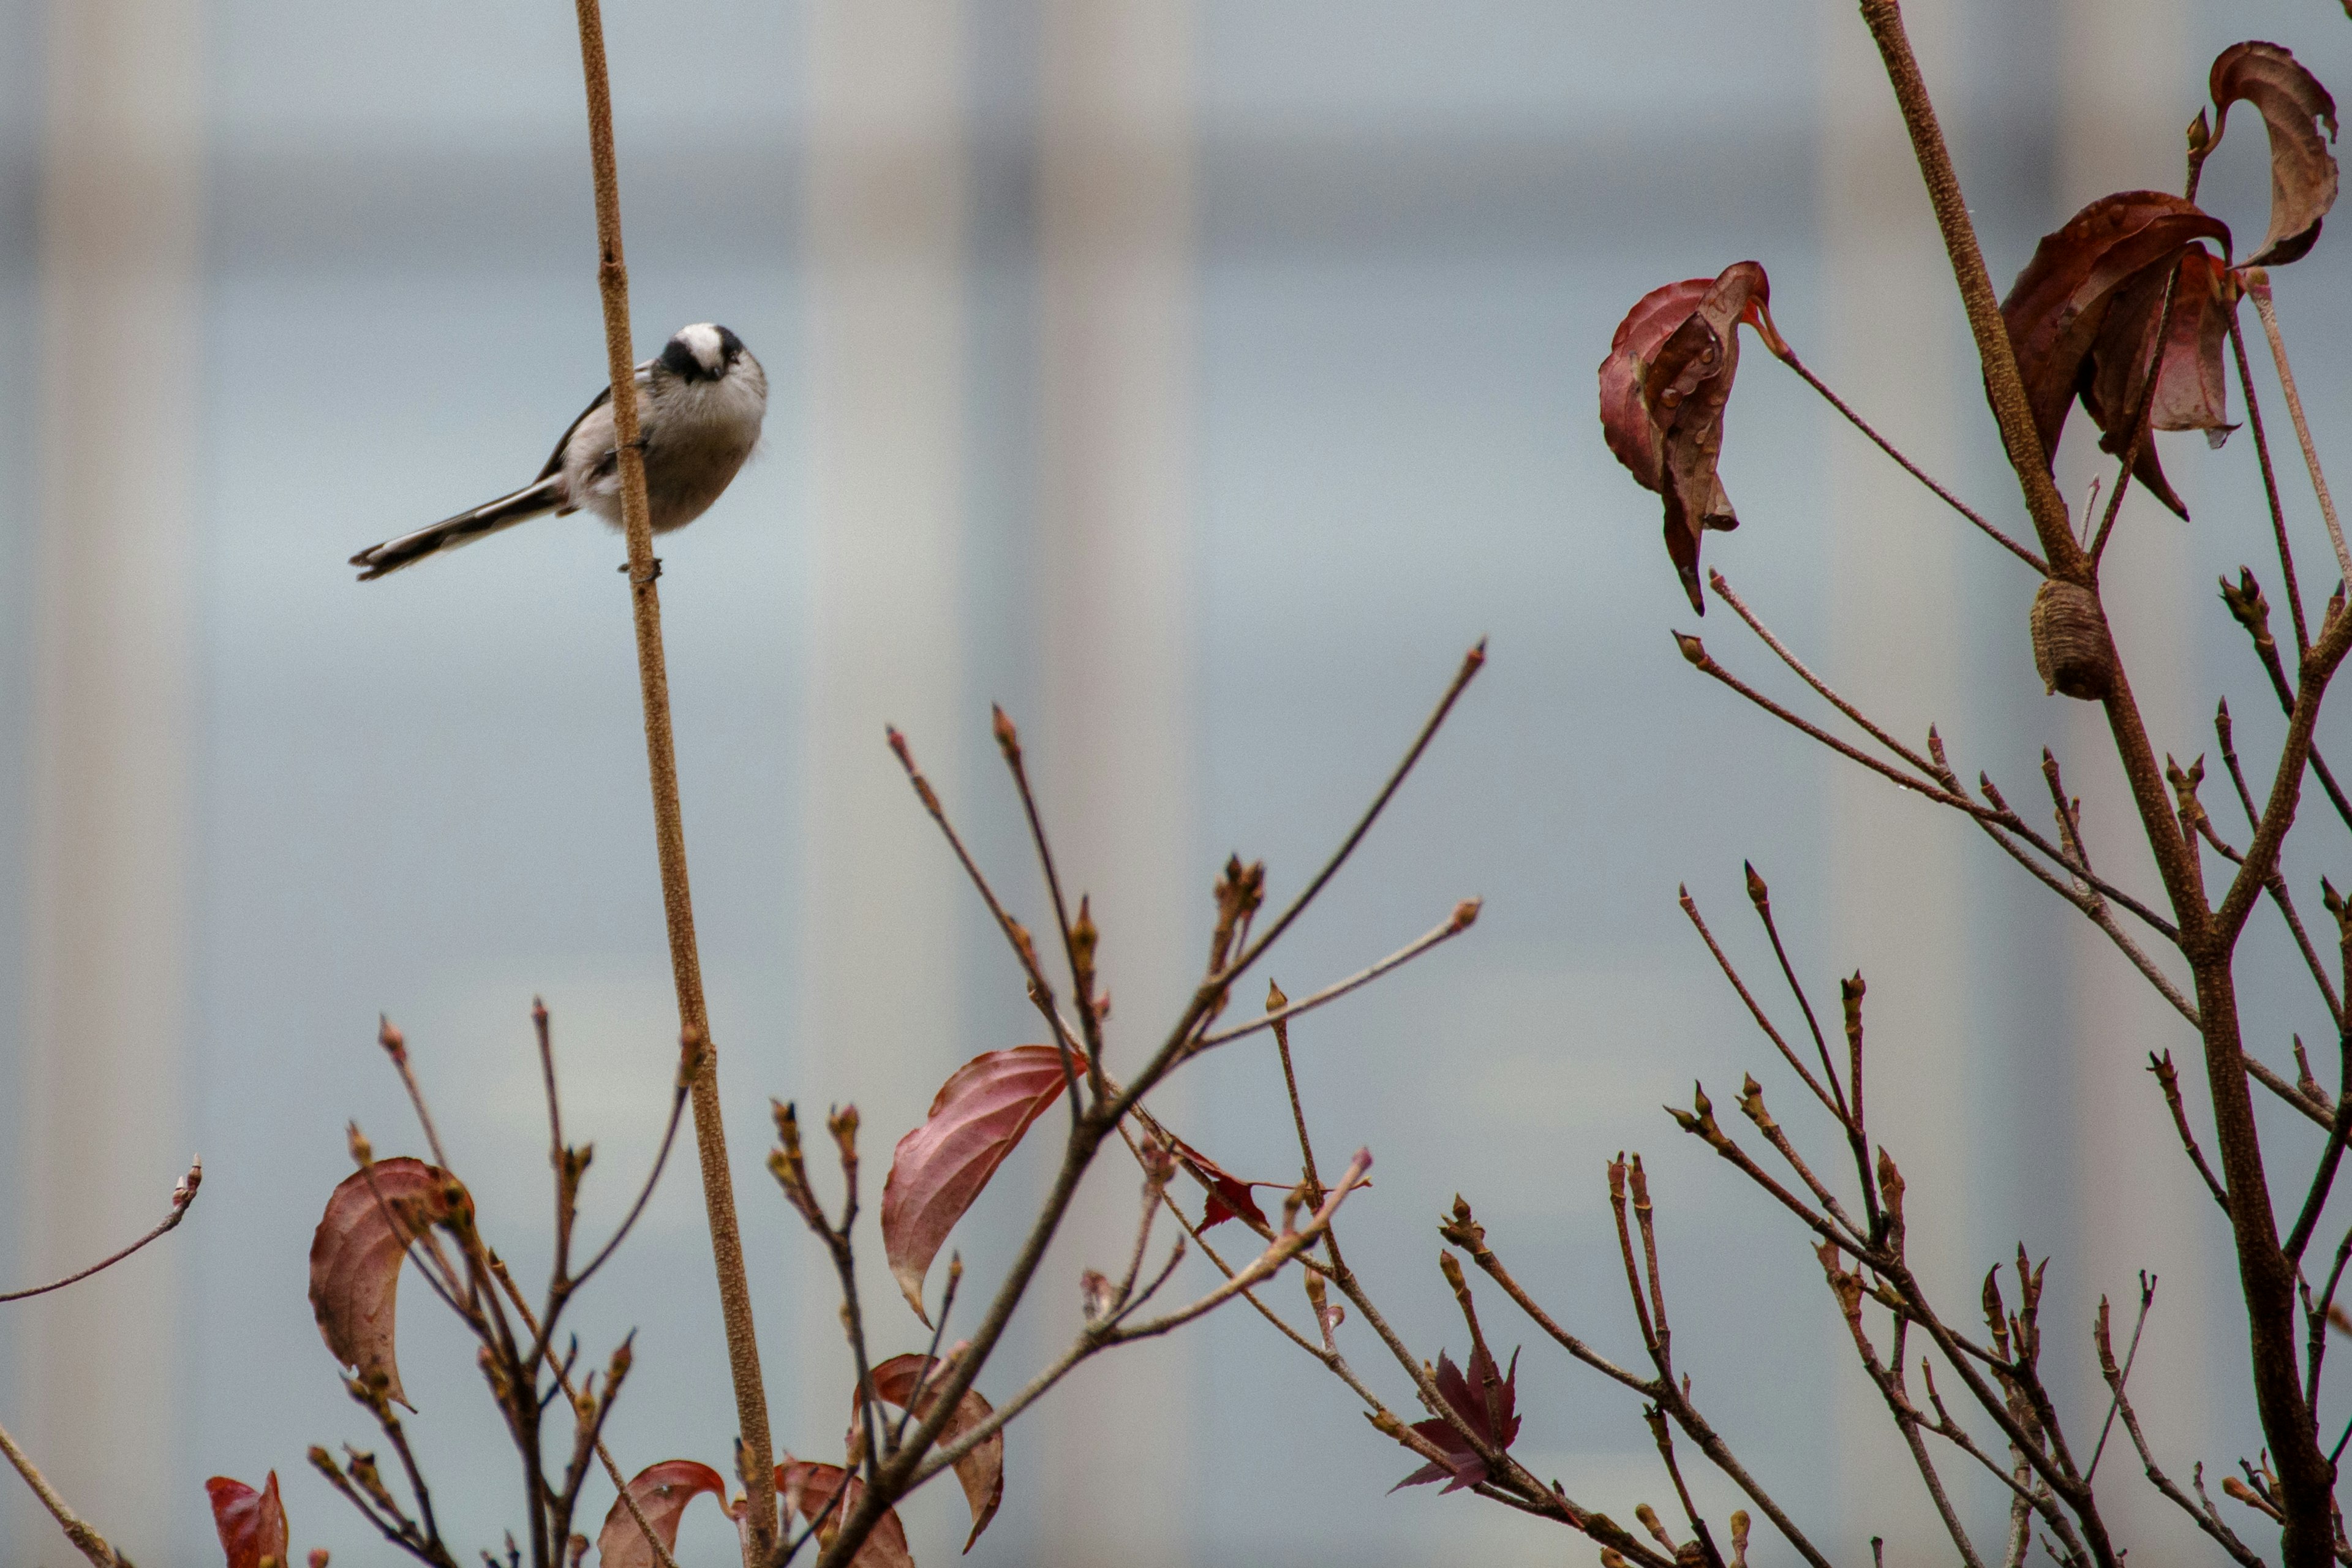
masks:
{"type": "MultiPolygon", "coordinates": [[[[2171,270],[2145,268],[2117,292],[2082,371],[2082,407],[2100,428],[2100,451],[2122,456],[2131,447],[2152,360],[2157,395],[2147,409],[2150,423],[2157,430],[2204,430],[2216,447],[2227,440],[2237,425],[2230,423],[2223,346],[2230,341],[2230,313],[2237,310],[2237,275],[2201,244],[2180,252],[2180,261],[2171,270]],[[2166,331],[2164,353],[2154,355],[2166,282],[2173,287],[2171,331],[2166,331]]],[[[2131,475],[2157,501],[2187,517],[2180,496],[2164,480],[2152,440],[2140,442],[2131,475]]]]}

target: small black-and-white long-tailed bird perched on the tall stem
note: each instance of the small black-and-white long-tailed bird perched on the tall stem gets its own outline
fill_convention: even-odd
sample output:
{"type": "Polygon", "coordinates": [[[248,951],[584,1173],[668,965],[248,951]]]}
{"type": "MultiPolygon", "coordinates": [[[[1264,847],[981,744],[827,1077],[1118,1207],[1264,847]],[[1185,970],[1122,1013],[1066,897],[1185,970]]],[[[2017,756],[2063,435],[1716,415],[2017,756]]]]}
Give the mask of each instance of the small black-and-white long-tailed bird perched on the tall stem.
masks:
{"type": "MultiPolygon", "coordinates": [[[[661,355],[637,367],[637,444],[656,534],[682,529],[710,510],[760,442],[764,416],[767,371],[743,339],[713,322],[680,327],[661,355]]],[[[609,386],[555,442],[536,480],[470,512],[369,545],[350,564],[362,567],[360,581],[367,583],[543,512],[567,517],[579,510],[621,527],[609,386]]]]}

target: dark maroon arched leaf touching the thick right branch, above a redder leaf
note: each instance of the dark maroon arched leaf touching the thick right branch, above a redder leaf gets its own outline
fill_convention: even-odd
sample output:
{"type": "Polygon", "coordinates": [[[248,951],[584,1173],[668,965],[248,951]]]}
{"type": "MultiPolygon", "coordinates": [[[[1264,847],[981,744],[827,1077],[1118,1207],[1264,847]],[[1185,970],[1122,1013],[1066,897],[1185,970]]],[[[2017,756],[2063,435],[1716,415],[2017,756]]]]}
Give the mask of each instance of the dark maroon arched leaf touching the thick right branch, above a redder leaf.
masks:
{"type": "MultiPolygon", "coordinates": [[[[2218,240],[2227,252],[2230,226],[2164,190],[2119,190],[2098,197],[2034,247],[2034,259],[2002,301],[2002,317],[2018,350],[2018,374],[2042,433],[2042,451],[2051,461],[2058,458],[2058,433],[2074,393],[2096,376],[2091,350],[2100,346],[2100,329],[2117,296],[2150,275],[2161,289],[2164,275],[2197,240],[2218,240]]],[[[2145,336],[2140,343],[2145,346],[2145,336]]],[[[2100,353],[2129,357],[2131,348],[2107,339],[2100,353]]],[[[2112,418],[2129,423],[2131,409],[2119,409],[2112,418]]],[[[2124,440],[2131,440],[2129,430],[2124,440]]],[[[2169,489],[2157,494],[2178,510],[2169,489]]]]}

